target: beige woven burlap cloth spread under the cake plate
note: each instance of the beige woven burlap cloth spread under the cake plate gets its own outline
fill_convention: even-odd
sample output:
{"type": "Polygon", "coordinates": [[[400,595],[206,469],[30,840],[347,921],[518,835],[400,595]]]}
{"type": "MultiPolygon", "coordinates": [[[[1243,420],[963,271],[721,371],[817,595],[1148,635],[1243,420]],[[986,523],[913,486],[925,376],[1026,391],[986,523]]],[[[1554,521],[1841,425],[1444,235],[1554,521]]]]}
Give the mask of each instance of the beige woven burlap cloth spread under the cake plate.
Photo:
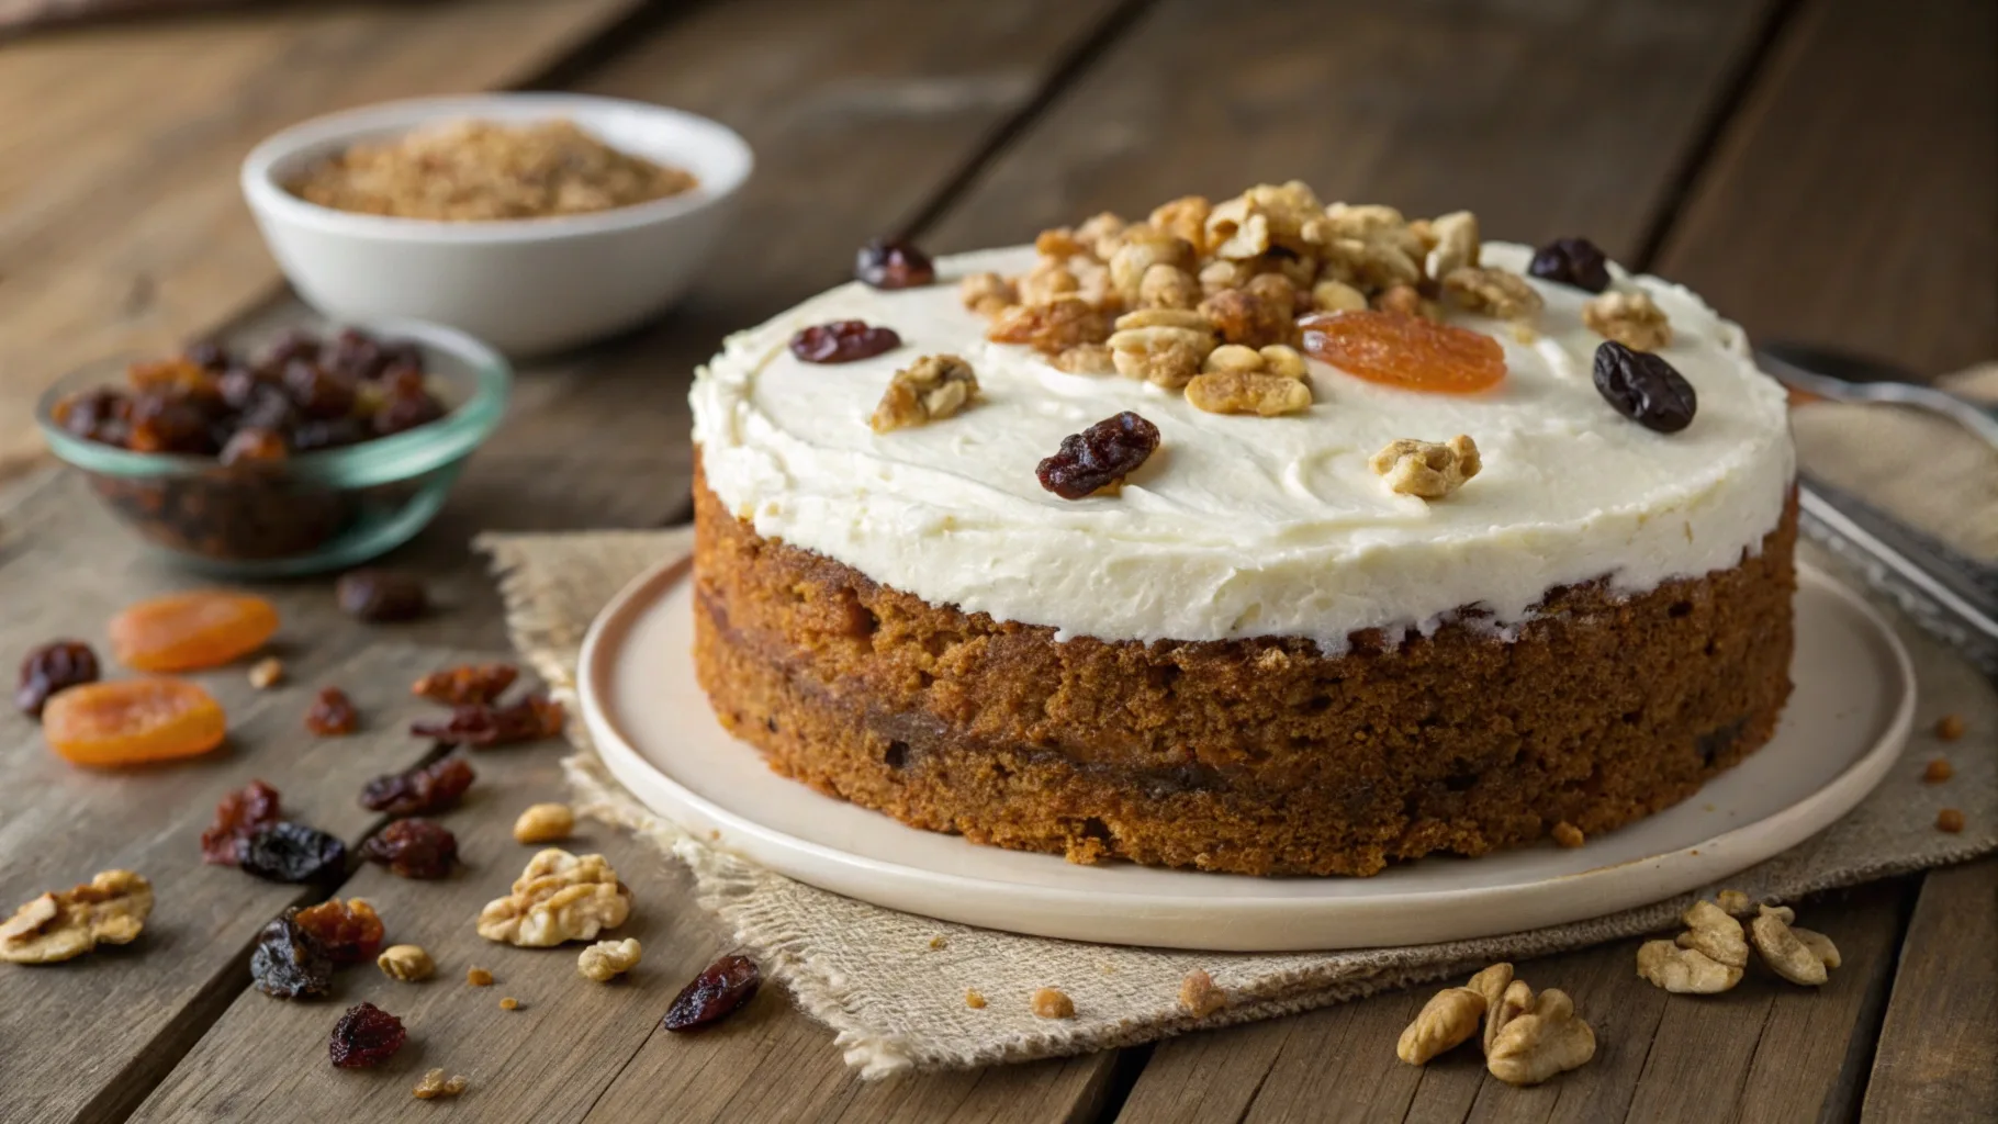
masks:
{"type": "MultiPolygon", "coordinates": [[[[1920,421],[1892,423],[1910,423],[1912,439],[1922,441],[1924,451],[1904,451],[1908,471],[1934,463],[1938,441],[1948,457],[1964,457],[1956,463],[1974,463],[1974,453],[1990,455],[1988,449],[1958,445],[1958,439],[1970,441],[1962,433],[1938,433],[1920,421]]],[[[1798,429],[1808,431],[1806,463],[1850,457],[1854,451],[1848,445],[1860,445],[1868,455],[1886,455],[1880,451],[1886,441],[1880,427],[1848,425],[1848,419],[1806,425],[1800,419],[1798,429]],[[1844,439],[1842,425],[1850,429],[1844,439]]],[[[1950,497],[1958,517],[1968,499],[1982,503],[1970,519],[1958,523],[1978,523],[1990,531],[1998,527],[1998,463],[1986,467],[1990,475],[1982,491],[1964,487],[1958,477],[1950,497]]],[[[1880,499],[1878,491],[1860,491],[1880,499]]],[[[575,657],[591,617],[625,581],[683,555],[689,545],[685,529],[480,539],[500,575],[513,643],[571,703],[575,657]]],[[[1810,543],[1802,551],[1806,559],[1836,571],[1838,563],[1826,551],[1810,543]]],[[[1998,761],[1992,753],[1998,691],[1966,661],[1906,621],[1896,619],[1896,629],[1914,657],[1922,695],[1906,759],[1844,821],[1728,878],[1728,886],[1790,900],[1998,848],[1998,761]],[[1944,713],[1962,715],[1970,729],[1964,741],[1946,749],[1930,733],[1944,713]],[[1924,785],[1922,765],[1938,753],[1948,753],[1956,779],[1948,785],[1924,785]],[[1964,813],[1968,829],[1962,835],[1936,831],[1942,807],[1964,813]]],[[[1015,936],[843,898],[691,839],[649,813],[603,771],[581,723],[569,723],[569,731],[577,741],[577,753],[567,763],[577,803],[597,819],[651,839],[691,866],[701,904],[737,940],[757,950],[765,970],[791,988],[799,1006],[837,1032],[837,1044],[863,1076],[883,1076],[907,1066],[977,1066],[1077,1054],[1201,1026],[1289,1014],[1463,974],[1493,960],[1520,960],[1654,932],[1672,926],[1690,900],[1510,936],[1321,954],[1179,952],[1015,936]],[[1211,972],[1231,996],[1227,1008],[1205,1020],[1189,1018],[1177,1008],[1179,984],[1193,968],[1211,972]],[[1027,996],[1041,986],[1059,986],[1073,996],[1075,1018],[1035,1018],[1027,996]],[[983,992],[989,1006],[967,1008],[967,988],[983,992]]],[[[1814,916],[1812,924],[1838,936],[1836,918],[1814,916]]]]}

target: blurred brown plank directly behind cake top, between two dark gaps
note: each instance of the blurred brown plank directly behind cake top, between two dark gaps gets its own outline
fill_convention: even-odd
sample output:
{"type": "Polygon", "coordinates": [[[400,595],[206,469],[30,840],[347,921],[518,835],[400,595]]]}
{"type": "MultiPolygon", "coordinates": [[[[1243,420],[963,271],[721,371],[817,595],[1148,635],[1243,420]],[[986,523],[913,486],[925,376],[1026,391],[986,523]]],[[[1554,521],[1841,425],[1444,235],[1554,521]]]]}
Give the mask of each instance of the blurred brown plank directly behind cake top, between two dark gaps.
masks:
{"type": "Polygon", "coordinates": [[[1167,0],[993,164],[941,250],[1305,180],[1636,248],[1768,4],[1167,0]]]}

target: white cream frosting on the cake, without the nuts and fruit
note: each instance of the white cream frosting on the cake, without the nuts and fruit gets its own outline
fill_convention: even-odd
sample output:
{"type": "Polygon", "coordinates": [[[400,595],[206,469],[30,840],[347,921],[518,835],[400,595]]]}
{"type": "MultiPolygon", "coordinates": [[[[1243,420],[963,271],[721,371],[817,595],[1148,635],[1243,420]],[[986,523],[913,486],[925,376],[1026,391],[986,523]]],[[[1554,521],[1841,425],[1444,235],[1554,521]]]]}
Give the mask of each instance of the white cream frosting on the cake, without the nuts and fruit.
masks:
{"type": "MultiPolygon", "coordinates": [[[[1483,252],[1510,272],[1528,258],[1524,246],[1483,252]]],[[[1590,381],[1602,341],[1582,325],[1590,293],[1530,278],[1546,299],[1532,341],[1447,313],[1504,347],[1498,387],[1419,393],[1313,359],[1309,411],[1253,417],[987,341],[955,281],[1033,260],[1033,248],[945,258],[935,285],[855,281],[731,335],[691,391],[707,485],[763,537],[1061,639],[1285,635],[1327,653],[1361,629],[1431,631],[1467,607],[1506,629],[1556,585],[1606,577],[1640,593],[1728,569],[1782,517],[1794,475],[1784,391],[1756,371],[1742,329],[1680,285],[1614,272],[1670,317],[1660,355],[1698,393],[1680,433],[1610,409],[1590,381]],[[791,355],[791,333],[831,319],[893,327],[903,345],[841,365],[791,355]],[[969,359],[979,399],[931,425],[869,429],[889,377],[931,353],[969,359]],[[1045,491],[1041,457],[1123,409],[1151,419],[1161,445],[1121,493],[1045,491]],[[1397,495],[1367,465],[1397,437],[1455,433],[1485,467],[1447,499],[1397,495]]]]}

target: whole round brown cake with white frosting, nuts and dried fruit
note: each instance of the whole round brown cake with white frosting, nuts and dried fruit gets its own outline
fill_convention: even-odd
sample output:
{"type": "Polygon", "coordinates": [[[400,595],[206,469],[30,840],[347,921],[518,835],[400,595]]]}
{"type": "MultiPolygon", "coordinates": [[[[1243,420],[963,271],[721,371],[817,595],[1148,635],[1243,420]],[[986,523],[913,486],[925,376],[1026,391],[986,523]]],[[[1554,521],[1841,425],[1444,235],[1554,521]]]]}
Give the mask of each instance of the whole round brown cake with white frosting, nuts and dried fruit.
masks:
{"type": "Polygon", "coordinates": [[[1784,393],[1694,293],[1301,184],[863,266],[693,387],[695,663],[779,773],[1373,874],[1582,844],[1772,737],[1784,393]]]}

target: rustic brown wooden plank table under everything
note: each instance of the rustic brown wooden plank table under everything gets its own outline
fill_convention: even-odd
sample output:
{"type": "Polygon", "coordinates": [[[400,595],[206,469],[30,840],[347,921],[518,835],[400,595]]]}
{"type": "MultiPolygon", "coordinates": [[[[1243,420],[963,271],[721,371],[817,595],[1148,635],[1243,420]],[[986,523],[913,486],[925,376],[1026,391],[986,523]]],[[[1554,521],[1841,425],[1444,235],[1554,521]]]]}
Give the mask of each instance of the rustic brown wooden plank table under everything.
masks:
{"type": "MultiPolygon", "coordinates": [[[[60,968],[0,970],[0,1120],[1992,1120],[1998,862],[1810,906],[1846,968],[1820,992],[1708,1002],[1634,978],[1632,944],[1552,956],[1596,1016],[1596,1060],[1534,1090],[1475,1058],[1415,1070],[1391,1042],[1423,994],[1121,1052],[863,1084],[781,994],[725,1030],[657,1030],[725,940],[683,870],[601,829],[645,944],[637,980],[579,986],[571,958],[498,948],[466,918],[517,870],[517,809],[557,793],[553,749],[480,759],[450,817],[470,870],[358,870],[394,936],[454,976],[372,968],[340,1004],[392,996],[424,1028],[384,1080],[336,1072],[338,1006],[246,988],[248,946],[312,894],[200,866],[216,797],[250,777],[358,839],[366,777],[424,747],[408,679],[505,645],[466,547],[480,529],[653,527],[687,513],[689,367],[719,335],[839,280],[861,240],[1019,242],[1097,210],[1303,178],[1325,198],[1475,210],[1487,232],[1588,234],[1682,280],[1752,333],[1922,371],[1998,355],[1998,6],[1988,0],[458,0],[270,4],[116,22],[0,46],[0,635],[8,651],[184,585],[42,473],[26,403],[70,363],[248,321],[296,319],[236,200],[270,130],[390,96],[575,88],[711,114],[757,148],[735,240],[663,321],[523,371],[513,415],[402,565],[444,609],[382,631],[324,583],[272,587],[294,687],[206,677],[232,749],[146,775],[56,763],[0,717],[0,904],[104,866],[160,886],[146,938],[60,968]],[[90,573],[90,581],[76,581],[90,573]],[[62,599],[40,591],[62,589],[62,599]],[[60,601],[60,603],[58,603],[60,601]],[[308,687],[342,683],[370,731],[314,743],[308,687]],[[456,982],[468,964],[490,992],[456,982]],[[500,994],[523,1008],[501,1012],[500,994]],[[456,1106],[412,1074],[474,1076],[456,1106]]],[[[1990,747],[1978,747],[1988,751],[1990,747]]],[[[1968,751],[1968,747],[1966,747],[1968,751]]]]}

